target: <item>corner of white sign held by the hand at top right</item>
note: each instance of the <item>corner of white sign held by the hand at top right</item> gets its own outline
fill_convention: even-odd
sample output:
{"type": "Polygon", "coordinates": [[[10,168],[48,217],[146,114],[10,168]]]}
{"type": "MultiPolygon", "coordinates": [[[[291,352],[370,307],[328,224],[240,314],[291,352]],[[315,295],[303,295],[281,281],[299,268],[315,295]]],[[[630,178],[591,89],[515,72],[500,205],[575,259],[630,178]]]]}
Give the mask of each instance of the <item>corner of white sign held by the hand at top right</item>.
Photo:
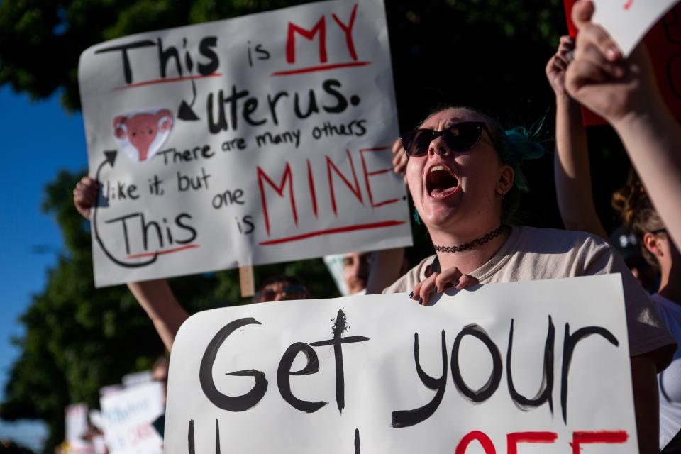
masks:
{"type": "Polygon", "coordinates": [[[679,0],[593,0],[593,21],[605,28],[627,57],[650,28],[679,0]]]}

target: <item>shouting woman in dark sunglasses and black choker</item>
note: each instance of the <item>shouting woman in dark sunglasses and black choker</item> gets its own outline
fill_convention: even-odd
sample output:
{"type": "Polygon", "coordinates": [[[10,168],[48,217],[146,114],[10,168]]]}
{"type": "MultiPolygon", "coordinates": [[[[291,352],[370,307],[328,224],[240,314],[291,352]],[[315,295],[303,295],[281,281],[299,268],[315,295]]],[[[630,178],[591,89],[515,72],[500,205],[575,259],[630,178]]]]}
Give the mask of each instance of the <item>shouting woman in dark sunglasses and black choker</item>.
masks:
{"type": "Polygon", "coordinates": [[[529,281],[620,272],[626,319],[638,441],[641,453],[657,449],[655,373],[676,345],[623,260],[587,233],[509,226],[525,180],[521,162],[541,147],[520,130],[467,108],[428,116],[402,135],[409,159],[406,180],[414,207],[437,252],[385,292],[409,292],[428,304],[448,287],[480,282],[529,281]]]}

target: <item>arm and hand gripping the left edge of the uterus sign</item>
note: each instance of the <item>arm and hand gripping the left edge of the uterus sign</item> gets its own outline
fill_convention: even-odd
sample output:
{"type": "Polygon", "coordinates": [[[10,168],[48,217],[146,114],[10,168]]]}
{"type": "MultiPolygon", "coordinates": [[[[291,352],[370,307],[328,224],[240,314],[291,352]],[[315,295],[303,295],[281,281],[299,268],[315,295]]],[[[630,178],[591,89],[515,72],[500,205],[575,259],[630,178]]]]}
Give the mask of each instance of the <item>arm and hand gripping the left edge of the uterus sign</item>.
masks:
{"type": "MultiPolygon", "coordinates": [[[[73,190],[73,204],[85,218],[89,218],[98,193],[99,183],[90,177],[82,177],[76,184],[73,190]]],[[[128,289],[153,322],[165,348],[170,351],[179,326],[189,315],[175,299],[168,282],[165,279],[130,282],[128,289]]]]}

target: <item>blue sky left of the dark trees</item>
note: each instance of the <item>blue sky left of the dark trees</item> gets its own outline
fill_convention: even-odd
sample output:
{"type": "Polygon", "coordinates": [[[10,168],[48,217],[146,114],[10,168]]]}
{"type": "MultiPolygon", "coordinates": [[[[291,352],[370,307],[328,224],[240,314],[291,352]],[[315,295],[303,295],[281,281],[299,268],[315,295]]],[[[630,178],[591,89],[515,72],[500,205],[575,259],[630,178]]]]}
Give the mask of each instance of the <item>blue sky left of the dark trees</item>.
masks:
{"type": "MultiPolygon", "coordinates": [[[[61,169],[87,167],[87,151],[80,114],[68,115],[58,96],[32,102],[25,94],[0,87],[0,125],[5,194],[0,198],[5,238],[0,255],[4,294],[0,302],[0,400],[7,373],[18,355],[10,339],[21,336],[17,318],[31,295],[45,285],[46,270],[62,250],[57,223],[40,211],[43,188],[61,169]],[[39,248],[41,253],[35,250],[39,248]]],[[[40,423],[9,424],[0,421],[0,438],[13,438],[33,449],[40,446],[45,428],[40,423]]]]}

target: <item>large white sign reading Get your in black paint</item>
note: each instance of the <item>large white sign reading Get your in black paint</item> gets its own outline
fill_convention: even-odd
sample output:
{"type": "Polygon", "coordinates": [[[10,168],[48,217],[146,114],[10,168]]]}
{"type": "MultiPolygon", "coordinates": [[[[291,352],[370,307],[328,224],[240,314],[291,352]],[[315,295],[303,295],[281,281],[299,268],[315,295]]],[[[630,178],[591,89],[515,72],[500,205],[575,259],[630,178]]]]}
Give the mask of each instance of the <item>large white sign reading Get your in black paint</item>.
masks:
{"type": "Polygon", "coordinates": [[[448,292],[195,314],[165,452],[638,452],[620,275],[448,292]]]}

